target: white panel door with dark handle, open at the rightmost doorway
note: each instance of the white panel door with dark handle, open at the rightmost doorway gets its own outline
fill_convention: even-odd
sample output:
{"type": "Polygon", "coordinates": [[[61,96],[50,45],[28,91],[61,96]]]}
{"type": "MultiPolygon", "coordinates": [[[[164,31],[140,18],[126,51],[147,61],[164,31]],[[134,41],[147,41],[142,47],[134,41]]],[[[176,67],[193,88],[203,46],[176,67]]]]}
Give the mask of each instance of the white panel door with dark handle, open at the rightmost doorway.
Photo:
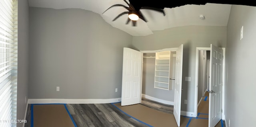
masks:
{"type": "Polygon", "coordinates": [[[222,60],[223,50],[211,44],[209,88],[209,127],[222,119],[222,60]]]}

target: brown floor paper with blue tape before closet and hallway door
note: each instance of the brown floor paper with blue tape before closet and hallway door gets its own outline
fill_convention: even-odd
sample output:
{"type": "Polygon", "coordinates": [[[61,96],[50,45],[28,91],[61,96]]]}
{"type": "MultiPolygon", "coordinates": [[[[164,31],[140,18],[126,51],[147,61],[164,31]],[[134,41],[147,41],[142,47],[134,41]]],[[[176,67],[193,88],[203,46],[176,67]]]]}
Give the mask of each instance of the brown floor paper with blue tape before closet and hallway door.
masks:
{"type": "MultiPolygon", "coordinates": [[[[131,115],[132,117],[143,121],[153,127],[177,127],[176,120],[173,114],[163,113],[161,111],[156,111],[149,107],[143,106],[141,104],[135,104],[130,106],[121,106],[121,103],[114,104],[119,109],[125,113],[131,115]]],[[[188,127],[208,127],[208,111],[209,111],[209,98],[206,101],[202,100],[200,106],[198,107],[198,113],[203,113],[196,117],[180,117],[180,127],[187,127],[188,122],[190,123],[188,127]],[[203,119],[200,119],[203,118],[203,119]]],[[[215,127],[222,127],[221,121],[215,127]]]]}

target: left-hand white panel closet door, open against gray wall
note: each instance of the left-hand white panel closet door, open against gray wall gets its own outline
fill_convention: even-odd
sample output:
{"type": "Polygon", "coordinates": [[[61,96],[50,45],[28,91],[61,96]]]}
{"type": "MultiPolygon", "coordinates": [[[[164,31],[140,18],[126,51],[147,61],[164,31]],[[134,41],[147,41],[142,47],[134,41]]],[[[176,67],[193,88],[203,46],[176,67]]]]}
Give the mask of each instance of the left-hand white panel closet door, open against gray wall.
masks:
{"type": "Polygon", "coordinates": [[[121,106],[141,102],[142,53],[124,48],[121,106]]]}

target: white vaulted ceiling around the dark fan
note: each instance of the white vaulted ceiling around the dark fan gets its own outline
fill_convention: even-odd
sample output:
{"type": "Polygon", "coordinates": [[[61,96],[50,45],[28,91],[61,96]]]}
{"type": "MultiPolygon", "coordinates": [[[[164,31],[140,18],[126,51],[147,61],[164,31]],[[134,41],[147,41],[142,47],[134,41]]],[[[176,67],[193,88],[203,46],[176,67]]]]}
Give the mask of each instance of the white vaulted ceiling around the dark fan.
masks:
{"type": "Polygon", "coordinates": [[[100,14],[113,27],[121,29],[133,36],[150,35],[153,34],[152,31],[185,25],[226,26],[231,9],[230,4],[187,4],[175,8],[164,8],[166,16],[152,10],[140,10],[148,22],[139,19],[137,26],[133,27],[131,22],[127,25],[125,24],[128,14],[121,16],[116,21],[112,21],[118,14],[127,11],[122,7],[110,8],[102,14],[114,4],[128,6],[123,0],[28,0],[28,3],[30,7],[54,9],[80,8],[90,10],[100,14]],[[201,14],[205,16],[204,20],[199,18],[201,14]]]}

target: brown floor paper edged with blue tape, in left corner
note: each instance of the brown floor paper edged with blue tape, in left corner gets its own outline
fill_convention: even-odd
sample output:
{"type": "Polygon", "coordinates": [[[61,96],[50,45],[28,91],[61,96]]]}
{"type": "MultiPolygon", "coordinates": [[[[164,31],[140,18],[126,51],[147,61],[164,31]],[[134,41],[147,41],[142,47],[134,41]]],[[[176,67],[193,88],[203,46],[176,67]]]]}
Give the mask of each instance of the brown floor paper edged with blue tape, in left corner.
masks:
{"type": "Polygon", "coordinates": [[[63,104],[33,106],[34,127],[75,127],[63,104]]]}

